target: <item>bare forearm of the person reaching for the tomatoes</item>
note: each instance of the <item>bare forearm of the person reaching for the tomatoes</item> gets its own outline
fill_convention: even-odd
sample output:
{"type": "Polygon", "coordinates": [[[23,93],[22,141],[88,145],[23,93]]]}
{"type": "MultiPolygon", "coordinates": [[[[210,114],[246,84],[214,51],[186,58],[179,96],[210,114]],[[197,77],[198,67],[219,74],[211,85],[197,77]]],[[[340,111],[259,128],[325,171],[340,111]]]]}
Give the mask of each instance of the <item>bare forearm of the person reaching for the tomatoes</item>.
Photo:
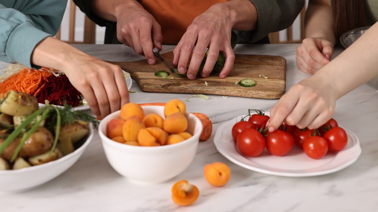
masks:
{"type": "Polygon", "coordinates": [[[378,23],[367,30],[353,45],[320,69],[312,80],[333,87],[337,98],[378,76],[378,23]]]}

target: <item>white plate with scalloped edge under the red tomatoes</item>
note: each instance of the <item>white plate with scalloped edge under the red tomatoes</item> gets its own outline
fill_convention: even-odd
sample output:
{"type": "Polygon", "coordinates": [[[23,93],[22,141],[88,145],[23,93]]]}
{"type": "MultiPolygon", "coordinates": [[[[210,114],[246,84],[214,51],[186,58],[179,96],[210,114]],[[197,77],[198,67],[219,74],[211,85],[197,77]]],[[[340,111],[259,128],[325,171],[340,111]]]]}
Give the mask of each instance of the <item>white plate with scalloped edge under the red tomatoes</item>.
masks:
{"type": "MultiPolygon", "coordinates": [[[[269,115],[268,112],[265,114],[269,115]]],[[[274,156],[265,150],[260,156],[247,157],[236,150],[236,145],[231,135],[231,129],[236,120],[240,120],[240,117],[226,121],[218,128],[214,137],[214,144],[217,150],[228,160],[240,167],[253,171],[286,177],[318,176],[348,167],[361,154],[360,142],[357,136],[343,128],[348,136],[348,144],[345,149],[339,152],[328,152],[326,156],[318,160],[308,157],[296,145],[284,156],[274,156]]]]}

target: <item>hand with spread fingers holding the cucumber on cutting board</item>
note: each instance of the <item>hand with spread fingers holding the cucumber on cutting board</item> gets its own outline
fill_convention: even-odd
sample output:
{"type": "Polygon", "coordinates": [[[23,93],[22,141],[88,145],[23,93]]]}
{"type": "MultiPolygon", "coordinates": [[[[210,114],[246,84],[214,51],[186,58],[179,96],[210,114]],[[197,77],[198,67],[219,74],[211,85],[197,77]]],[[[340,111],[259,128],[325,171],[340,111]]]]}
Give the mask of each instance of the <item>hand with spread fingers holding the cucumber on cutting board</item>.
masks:
{"type": "Polygon", "coordinates": [[[215,4],[197,16],[190,24],[173,50],[173,66],[177,66],[180,74],[187,73],[189,79],[195,79],[207,47],[209,53],[201,76],[209,76],[220,52],[226,60],[219,76],[225,78],[231,72],[235,61],[235,54],[231,47],[232,21],[224,15],[225,9],[221,3],[215,4]]]}

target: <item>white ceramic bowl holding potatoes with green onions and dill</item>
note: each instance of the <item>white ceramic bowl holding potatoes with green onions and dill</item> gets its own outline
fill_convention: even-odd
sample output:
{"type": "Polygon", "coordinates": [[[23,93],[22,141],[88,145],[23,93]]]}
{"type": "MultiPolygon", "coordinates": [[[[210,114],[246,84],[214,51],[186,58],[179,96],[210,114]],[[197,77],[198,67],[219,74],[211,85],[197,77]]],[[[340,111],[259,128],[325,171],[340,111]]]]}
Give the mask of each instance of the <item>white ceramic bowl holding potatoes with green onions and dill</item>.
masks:
{"type": "Polygon", "coordinates": [[[89,135],[74,152],[46,164],[18,170],[0,170],[0,192],[22,192],[48,182],[71,167],[91,142],[94,129],[90,124],[89,135]]]}

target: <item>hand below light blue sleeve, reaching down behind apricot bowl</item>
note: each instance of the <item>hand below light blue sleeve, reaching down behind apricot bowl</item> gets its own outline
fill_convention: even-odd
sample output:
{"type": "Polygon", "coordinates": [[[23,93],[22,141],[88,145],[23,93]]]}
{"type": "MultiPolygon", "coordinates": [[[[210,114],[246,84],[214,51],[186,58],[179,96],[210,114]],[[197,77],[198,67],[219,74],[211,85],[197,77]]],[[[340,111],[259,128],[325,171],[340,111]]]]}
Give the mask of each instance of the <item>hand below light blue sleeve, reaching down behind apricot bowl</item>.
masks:
{"type": "Polygon", "coordinates": [[[129,102],[125,76],[117,65],[81,54],[67,62],[61,71],[98,117],[104,118],[129,102]]]}

